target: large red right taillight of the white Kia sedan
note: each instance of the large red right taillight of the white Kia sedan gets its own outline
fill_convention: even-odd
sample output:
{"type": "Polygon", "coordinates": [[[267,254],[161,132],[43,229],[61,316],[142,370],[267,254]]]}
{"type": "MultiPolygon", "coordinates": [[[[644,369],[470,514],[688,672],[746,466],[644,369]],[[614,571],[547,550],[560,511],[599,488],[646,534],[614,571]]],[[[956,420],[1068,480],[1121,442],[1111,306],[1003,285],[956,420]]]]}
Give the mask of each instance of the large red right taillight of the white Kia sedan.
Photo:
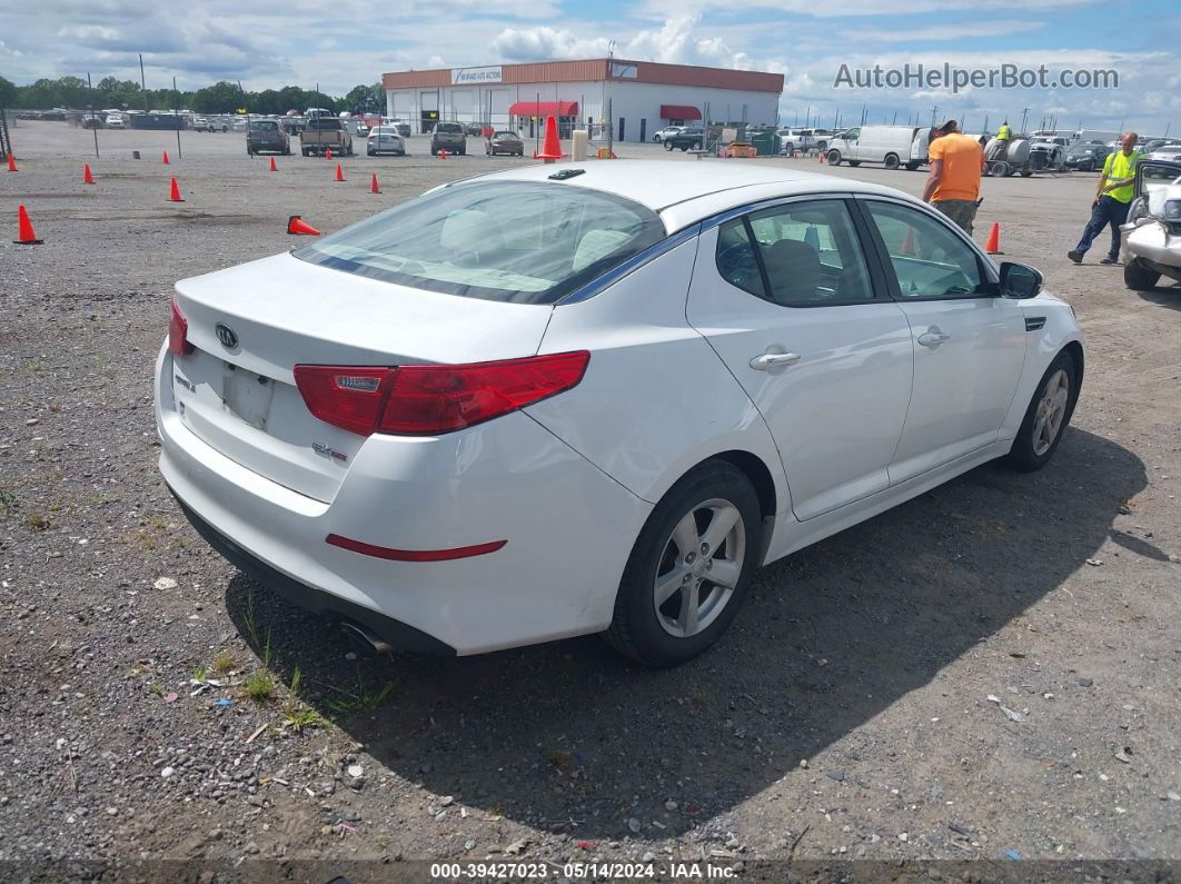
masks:
{"type": "Polygon", "coordinates": [[[295,366],[312,414],[361,436],[433,436],[481,424],[575,386],[586,351],[451,366],[295,366]]]}

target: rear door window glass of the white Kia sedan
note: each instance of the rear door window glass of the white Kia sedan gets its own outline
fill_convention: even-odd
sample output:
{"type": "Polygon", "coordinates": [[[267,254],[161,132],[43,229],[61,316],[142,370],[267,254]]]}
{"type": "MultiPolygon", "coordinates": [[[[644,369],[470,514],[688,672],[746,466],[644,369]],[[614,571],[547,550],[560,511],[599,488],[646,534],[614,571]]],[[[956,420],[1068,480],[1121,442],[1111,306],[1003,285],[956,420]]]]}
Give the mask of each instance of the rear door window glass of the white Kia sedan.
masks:
{"type": "Polygon", "coordinates": [[[785,307],[872,301],[856,229],[840,199],[777,205],[726,222],[718,270],[731,284],[785,307]]]}

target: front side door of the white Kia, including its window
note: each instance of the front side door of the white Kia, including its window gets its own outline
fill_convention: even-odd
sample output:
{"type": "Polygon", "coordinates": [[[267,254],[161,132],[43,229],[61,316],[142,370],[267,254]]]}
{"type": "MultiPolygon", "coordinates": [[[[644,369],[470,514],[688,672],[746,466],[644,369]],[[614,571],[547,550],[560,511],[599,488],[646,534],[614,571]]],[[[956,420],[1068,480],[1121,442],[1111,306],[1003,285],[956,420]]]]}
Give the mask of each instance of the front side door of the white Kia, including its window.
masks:
{"type": "Polygon", "coordinates": [[[859,201],[914,338],[914,388],[889,469],[906,482],[996,441],[1025,360],[1025,320],[984,260],[934,211],[859,201]]]}

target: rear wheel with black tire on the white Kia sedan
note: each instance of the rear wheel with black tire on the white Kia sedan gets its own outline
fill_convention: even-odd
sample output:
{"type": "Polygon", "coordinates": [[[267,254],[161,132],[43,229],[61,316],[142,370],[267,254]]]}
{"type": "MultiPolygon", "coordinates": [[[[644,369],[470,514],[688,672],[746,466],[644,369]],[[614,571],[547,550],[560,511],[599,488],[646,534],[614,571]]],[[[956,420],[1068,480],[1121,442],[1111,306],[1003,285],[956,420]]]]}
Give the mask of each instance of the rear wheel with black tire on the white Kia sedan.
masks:
{"type": "Polygon", "coordinates": [[[763,550],[750,479],[710,460],[664,496],[632,548],[605,633],[621,654],[651,667],[691,660],[738,613],[763,550]]]}

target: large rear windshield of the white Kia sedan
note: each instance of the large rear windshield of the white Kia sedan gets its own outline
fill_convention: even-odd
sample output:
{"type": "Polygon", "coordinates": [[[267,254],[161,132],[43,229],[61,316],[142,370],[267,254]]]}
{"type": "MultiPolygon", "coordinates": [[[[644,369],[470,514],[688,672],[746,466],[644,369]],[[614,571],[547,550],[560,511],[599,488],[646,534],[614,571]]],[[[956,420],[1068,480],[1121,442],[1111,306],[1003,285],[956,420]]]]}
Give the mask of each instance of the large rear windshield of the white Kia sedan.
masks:
{"type": "Polygon", "coordinates": [[[430,292],[554,303],[664,236],[655,212],[611,194],[474,182],[398,205],[294,255],[430,292]]]}

